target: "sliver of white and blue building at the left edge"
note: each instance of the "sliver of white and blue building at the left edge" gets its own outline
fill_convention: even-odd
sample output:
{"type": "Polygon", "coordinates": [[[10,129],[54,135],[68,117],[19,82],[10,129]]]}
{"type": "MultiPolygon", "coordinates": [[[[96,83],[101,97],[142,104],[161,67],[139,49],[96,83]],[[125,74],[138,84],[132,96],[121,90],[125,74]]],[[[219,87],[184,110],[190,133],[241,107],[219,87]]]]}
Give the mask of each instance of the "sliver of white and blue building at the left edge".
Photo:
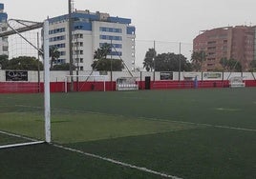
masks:
{"type": "MultiPolygon", "coordinates": [[[[8,29],[8,14],[4,11],[4,4],[0,3],[0,32],[8,29]]],[[[8,55],[8,37],[0,38],[0,55],[8,55]]]]}

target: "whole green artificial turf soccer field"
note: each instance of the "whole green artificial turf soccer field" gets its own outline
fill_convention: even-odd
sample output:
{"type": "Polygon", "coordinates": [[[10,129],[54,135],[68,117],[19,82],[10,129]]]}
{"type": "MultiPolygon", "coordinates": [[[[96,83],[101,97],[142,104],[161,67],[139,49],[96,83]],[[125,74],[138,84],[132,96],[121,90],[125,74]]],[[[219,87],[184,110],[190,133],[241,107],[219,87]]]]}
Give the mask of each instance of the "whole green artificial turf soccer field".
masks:
{"type": "MultiPolygon", "coordinates": [[[[44,140],[43,100],[0,94],[0,145],[44,140]]],[[[52,93],[51,107],[53,144],[0,149],[0,178],[256,178],[255,88],[52,93]]]]}

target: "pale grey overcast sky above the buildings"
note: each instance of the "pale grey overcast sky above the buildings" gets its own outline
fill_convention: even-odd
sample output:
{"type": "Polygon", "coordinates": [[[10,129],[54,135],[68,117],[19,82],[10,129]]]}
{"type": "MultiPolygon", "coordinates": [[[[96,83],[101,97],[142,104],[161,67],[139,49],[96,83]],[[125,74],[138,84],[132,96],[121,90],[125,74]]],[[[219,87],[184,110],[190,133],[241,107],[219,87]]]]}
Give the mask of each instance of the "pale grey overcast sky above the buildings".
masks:
{"type": "MultiPolygon", "coordinates": [[[[68,12],[68,0],[1,0],[9,18],[43,21],[68,12]]],[[[132,19],[137,35],[137,65],[153,47],[188,57],[200,30],[256,25],[256,0],[75,0],[75,9],[108,12],[132,19]],[[169,50],[169,51],[167,51],[169,50]]]]}

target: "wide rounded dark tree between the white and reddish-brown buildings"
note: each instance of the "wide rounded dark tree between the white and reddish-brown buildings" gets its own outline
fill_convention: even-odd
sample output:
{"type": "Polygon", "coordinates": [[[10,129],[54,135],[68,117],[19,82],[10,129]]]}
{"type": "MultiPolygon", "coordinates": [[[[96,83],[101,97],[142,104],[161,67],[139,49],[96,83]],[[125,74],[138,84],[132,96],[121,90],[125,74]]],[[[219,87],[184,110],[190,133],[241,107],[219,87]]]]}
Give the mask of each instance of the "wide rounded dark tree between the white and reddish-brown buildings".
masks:
{"type": "Polygon", "coordinates": [[[179,71],[181,60],[181,70],[192,70],[191,64],[182,54],[161,53],[156,56],[156,71],[179,71]]]}

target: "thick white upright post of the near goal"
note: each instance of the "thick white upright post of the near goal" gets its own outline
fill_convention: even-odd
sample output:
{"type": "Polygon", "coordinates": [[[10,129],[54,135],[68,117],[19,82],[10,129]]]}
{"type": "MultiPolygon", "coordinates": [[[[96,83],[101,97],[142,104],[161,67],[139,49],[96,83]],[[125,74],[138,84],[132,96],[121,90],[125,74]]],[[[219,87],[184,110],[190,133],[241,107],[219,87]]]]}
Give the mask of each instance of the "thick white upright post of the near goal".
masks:
{"type": "Polygon", "coordinates": [[[44,22],[45,141],[51,143],[49,21],[44,22]]]}

